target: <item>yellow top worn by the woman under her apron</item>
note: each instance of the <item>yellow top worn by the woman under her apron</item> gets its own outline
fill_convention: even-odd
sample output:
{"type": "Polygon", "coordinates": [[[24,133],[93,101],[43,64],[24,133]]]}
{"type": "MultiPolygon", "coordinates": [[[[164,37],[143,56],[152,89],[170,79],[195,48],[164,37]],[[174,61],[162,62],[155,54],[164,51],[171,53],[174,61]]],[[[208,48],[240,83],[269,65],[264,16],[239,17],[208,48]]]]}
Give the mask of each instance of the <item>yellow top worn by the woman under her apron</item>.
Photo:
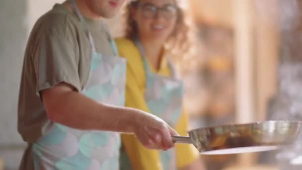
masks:
{"type": "MultiPolygon", "coordinates": [[[[138,108],[150,113],[144,99],[146,75],[142,56],[135,44],[128,39],[116,39],[121,57],[127,59],[126,106],[138,108]]],[[[151,72],[155,69],[150,66],[151,72]]],[[[170,76],[170,69],[165,59],[162,59],[157,74],[170,76]]],[[[179,135],[187,136],[188,116],[183,111],[179,122],[173,127],[179,135]]],[[[134,170],[161,170],[159,153],[146,149],[134,135],[122,135],[123,145],[134,170]]],[[[189,165],[199,157],[198,150],[190,144],[175,144],[177,167],[189,165]]]]}

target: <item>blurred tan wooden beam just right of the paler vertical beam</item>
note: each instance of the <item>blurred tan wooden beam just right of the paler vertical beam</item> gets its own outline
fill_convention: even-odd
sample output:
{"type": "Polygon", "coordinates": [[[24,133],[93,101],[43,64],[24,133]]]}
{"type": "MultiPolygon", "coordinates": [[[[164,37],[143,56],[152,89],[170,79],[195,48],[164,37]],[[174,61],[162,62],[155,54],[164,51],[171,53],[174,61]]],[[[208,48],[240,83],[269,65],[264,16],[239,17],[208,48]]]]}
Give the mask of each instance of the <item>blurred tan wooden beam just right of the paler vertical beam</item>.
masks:
{"type": "Polygon", "coordinates": [[[277,90],[280,32],[278,1],[256,0],[256,113],[257,120],[267,118],[267,104],[277,90]]]}

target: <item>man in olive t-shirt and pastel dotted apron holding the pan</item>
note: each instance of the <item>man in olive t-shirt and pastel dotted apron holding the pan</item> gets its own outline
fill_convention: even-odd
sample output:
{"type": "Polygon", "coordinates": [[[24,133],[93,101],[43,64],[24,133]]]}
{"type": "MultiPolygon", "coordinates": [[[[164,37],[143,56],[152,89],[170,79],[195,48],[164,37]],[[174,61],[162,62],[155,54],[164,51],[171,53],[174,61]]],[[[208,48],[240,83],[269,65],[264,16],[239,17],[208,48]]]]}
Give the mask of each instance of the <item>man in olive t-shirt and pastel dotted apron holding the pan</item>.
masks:
{"type": "Polygon", "coordinates": [[[20,170],[118,170],[120,136],[173,147],[177,133],[123,107],[126,61],[101,19],[125,0],[68,0],[35,23],[24,56],[18,131],[28,143],[20,170]]]}

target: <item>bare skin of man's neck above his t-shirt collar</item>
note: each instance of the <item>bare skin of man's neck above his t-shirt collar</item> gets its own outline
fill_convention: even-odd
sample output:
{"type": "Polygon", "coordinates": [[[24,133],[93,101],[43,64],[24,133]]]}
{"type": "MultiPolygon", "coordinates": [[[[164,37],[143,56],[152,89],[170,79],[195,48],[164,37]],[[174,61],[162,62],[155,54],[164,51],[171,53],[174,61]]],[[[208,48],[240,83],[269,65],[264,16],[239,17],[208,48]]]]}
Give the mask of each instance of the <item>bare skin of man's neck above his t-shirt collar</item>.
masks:
{"type": "MultiPolygon", "coordinates": [[[[70,6],[70,0],[66,0],[63,4],[71,9],[70,6]]],[[[97,15],[96,13],[92,12],[92,10],[89,8],[87,2],[85,0],[75,0],[75,3],[80,11],[80,13],[89,19],[93,19],[93,20],[100,20],[101,17],[99,15],[97,15]]]]}

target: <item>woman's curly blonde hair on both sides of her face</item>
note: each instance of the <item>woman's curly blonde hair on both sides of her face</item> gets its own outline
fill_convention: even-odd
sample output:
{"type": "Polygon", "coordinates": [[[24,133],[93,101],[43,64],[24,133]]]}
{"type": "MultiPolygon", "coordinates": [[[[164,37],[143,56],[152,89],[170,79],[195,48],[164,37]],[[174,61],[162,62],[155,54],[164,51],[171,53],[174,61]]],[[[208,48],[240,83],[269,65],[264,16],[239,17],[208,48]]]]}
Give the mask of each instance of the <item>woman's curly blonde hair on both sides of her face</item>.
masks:
{"type": "MultiPolygon", "coordinates": [[[[140,0],[131,0],[124,7],[122,17],[124,22],[124,35],[126,38],[133,38],[138,31],[130,11],[132,8],[137,8],[139,2],[140,0]]],[[[193,28],[192,23],[190,23],[191,20],[187,16],[188,12],[185,12],[185,9],[179,3],[179,0],[176,0],[178,15],[175,29],[165,43],[166,52],[174,62],[177,62],[175,60],[183,60],[188,54],[191,53],[190,51],[192,50],[190,38],[191,31],[189,31],[191,28],[193,28]]]]}

